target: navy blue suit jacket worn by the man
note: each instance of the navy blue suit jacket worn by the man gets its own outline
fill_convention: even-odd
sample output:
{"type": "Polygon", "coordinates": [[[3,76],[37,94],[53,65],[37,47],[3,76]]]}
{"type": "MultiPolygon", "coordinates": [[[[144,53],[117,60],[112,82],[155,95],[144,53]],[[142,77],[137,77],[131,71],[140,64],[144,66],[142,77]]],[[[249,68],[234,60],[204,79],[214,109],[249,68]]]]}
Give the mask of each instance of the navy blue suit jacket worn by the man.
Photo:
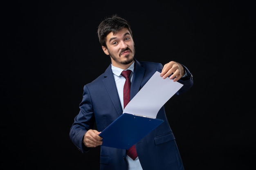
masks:
{"type": "MultiPolygon", "coordinates": [[[[162,68],[163,65],[160,63],[135,60],[131,98],[155,71],[161,72],[162,68]]],[[[188,76],[178,81],[184,86],[176,93],[177,95],[184,93],[193,85],[191,73],[185,66],[184,68],[188,76]]],[[[88,152],[90,148],[85,148],[82,142],[85,132],[94,127],[95,121],[97,130],[102,131],[123,113],[111,65],[105,73],[84,86],[83,99],[79,107],[80,112],[70,128],[70,139],[81,152],[88,152]]],[[[159,110],[157,118],[163,119],[164,123],[135,145],[141,166],[143,170],[183,170],[182,159],[164,107],[159,110]]],[[[126,150],[101,146],[100,167],[101,170],[127,170],[126,150]]]]}

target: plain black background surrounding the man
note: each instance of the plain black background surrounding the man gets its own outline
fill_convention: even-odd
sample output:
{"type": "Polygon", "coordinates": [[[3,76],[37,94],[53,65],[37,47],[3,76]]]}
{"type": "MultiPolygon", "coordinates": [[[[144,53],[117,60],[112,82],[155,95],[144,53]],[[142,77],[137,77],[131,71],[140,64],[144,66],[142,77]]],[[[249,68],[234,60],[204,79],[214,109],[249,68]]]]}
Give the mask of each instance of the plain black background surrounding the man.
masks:
{"type": "Polygon", "coordinates": [[[99,170],[69,130],[83,85],[110,64],[97,26],[117,13],[137,60],[175,60],[194,86],[166,112],[186,170],[249,169],[255,140],[255,5],[247,1],[2,3],[1,169],[99,170]]]}

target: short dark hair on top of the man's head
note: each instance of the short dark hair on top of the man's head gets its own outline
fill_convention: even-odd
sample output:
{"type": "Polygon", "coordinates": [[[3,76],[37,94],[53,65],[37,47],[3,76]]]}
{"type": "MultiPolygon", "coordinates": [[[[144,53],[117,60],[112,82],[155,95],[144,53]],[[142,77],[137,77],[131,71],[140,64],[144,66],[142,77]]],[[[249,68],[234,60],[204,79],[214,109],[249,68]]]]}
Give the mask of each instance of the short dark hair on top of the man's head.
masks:
{"type": "Polygon", "coordinates": [[[109,18],[105,18],[98,26],[98,38],[101,46],[106,47],[106,37],[109,33],[113,32],[114,34],[120,31],[123,28],[127,28],[132,37],[132,30],[130,28],[130,24],[117,14],[112,15],[109,18]]]}

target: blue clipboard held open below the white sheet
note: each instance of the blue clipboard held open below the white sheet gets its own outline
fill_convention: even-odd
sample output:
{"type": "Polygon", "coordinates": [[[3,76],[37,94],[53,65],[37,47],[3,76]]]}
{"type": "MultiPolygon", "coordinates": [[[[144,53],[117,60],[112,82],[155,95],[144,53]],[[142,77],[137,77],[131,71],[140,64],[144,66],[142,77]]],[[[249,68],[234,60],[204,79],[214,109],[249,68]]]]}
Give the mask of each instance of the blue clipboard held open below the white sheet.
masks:
{"type": "Polygon", "coordinates": [[[163,122],[162,119],[123,113],[99,134],[103,138],[101,146],[128,150],[163,122]]]}

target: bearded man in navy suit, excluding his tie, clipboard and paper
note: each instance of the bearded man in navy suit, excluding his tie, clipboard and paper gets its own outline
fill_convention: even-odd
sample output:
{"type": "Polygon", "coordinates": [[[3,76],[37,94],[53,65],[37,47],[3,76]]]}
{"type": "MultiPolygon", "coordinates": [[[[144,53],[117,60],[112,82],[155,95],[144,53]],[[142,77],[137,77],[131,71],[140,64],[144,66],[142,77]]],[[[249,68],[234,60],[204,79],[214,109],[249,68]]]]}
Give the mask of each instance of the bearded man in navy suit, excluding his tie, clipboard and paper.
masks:
{"type": "Polygon", "coordinates": [[[83,153],[100,146],[101,170],[184,170],[164,106],[157,114],[157,118],[163,119],[164,123],[135,144],[137,155],[134,160],[124,149],[101,146],[102,137],[99,134],[123,113],[126,79],[121,75],[122,71],[131,70],[130,99],[156,71],[163,79],[183,84],[176,93],[180,95],[193,86],[190,71],[174,61],[163,66],[161,63],[136,60],[130,25],[117,15],[99,24],[98,37],[104,53],[110,56],[111,64],[103,74],[84,86],[80,111],[70,128],[71,141],[83,153]],[[93,129],[94,122],[97,130],[93,129]]]}

